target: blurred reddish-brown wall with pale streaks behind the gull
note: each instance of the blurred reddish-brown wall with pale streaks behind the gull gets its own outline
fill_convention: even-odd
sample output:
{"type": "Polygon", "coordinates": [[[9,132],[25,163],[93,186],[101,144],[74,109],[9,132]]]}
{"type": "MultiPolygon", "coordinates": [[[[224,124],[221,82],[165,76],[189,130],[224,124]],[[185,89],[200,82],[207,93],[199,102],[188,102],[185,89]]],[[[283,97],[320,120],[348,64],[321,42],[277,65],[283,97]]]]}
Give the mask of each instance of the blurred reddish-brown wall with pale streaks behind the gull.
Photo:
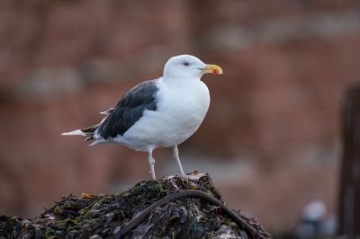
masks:
{"type": "MultiPolygon", "coordinates": [[[[335,215],[340,108],[360,79],[356,0],[1,1],[0,214],[149,180],[144,153],[60,133],[100,121],[184,53],[224,71],[202,78],[211,107],[179,146],[184,170],[210,173],[273,235],[311,202],[335,215]]],[[[157,176],[178,173],[169,149],[155,158],[157,176]]]]}

